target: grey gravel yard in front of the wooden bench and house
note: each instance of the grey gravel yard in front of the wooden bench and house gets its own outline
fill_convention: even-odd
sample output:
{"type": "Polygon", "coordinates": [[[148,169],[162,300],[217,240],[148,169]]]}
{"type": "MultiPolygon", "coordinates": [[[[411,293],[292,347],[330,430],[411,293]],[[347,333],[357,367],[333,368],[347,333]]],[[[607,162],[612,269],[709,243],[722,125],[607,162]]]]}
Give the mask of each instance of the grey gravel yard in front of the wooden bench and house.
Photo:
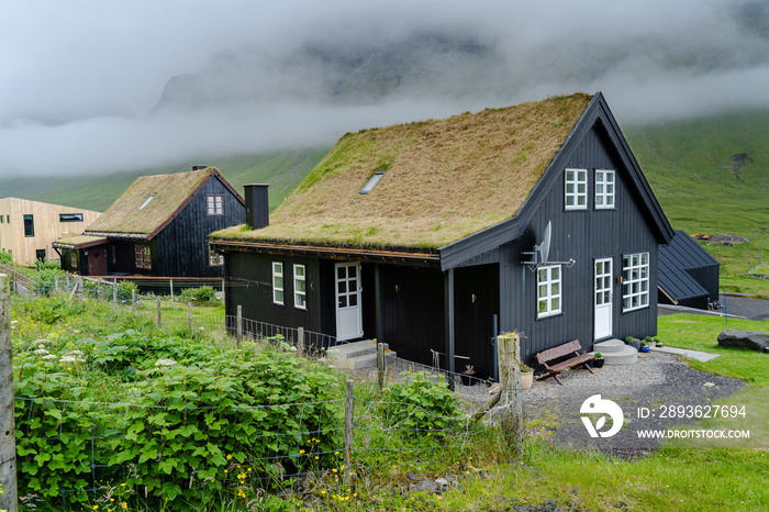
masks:
{"type": "MultiPolygon", "coordinates": [[[[706,405],[709,400],[728,397],[744,388],[738,379],[720,377],[692,369],[677,356],[650,352],[638,354],[638,363],[627,366],[604,366],[595,375],[577,368],[561,374],[564,386],[555,379],[534,381],[524,391],[524,415],[540,434],[553,436],[561,447],[593,447],[624,458],[646,455],[659,441],[638,438],[637,430],[669,428],[692,424],[695,420],[660,418],[662,405],[706,405]],[[712,382],[713,386],[704,386],[712,382]],[[579,411],[582,403],[594,394],[613,400],[623,410],[625,426],[609,438],[592,439],[579,411]],[[651,418],[638,418],[638,408],[656,410],[651,418]]],[[[488,398],[482,385],[457,387],[470,401],[480,403],[488,398]]],[[[598,418],[594,418],[594,421],[598,418]]],[[[603,428],[604,431],[606,427],[603,428]]]]}

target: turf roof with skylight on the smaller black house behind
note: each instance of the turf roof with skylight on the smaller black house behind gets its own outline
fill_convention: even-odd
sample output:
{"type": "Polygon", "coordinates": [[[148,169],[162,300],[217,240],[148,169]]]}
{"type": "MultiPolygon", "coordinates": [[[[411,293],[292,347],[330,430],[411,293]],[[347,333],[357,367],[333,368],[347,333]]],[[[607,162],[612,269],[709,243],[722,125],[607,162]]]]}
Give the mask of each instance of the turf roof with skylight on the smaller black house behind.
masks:
{"type": "Polygon", "coordinates": [[[212,174],[219,176],[214,167],[209,167],[137,178],[83,234],[152,237],[187,204],[212,174]],[[155,197],[140,210],[153,194],[155,197]]]}

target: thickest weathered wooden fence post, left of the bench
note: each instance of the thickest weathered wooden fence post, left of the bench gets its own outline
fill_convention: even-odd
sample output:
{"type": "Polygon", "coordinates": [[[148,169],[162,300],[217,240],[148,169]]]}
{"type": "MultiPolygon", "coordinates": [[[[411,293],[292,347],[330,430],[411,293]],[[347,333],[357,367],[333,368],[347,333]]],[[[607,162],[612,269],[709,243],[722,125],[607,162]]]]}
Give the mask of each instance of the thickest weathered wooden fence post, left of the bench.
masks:
{"type": "Polygon", "coordinates": [[[505,333],[498,337],[502,432],[516,459],[523,457],[523,400],[521,393],[521,336],[505,333]]]}

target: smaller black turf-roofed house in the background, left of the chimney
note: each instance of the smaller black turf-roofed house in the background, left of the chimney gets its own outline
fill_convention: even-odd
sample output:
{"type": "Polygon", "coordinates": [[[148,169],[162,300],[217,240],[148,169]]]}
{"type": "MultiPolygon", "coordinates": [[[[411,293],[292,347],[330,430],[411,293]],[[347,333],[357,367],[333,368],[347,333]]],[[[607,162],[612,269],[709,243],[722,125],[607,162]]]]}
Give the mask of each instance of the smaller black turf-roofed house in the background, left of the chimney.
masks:
{"type": "Polygon", "coordinates": [[[213,167],[144,176],[81,236],[57,241],[62,268],[83,276],[223,277],[209,233],[242,224],[244,199],[213,167]]]}

